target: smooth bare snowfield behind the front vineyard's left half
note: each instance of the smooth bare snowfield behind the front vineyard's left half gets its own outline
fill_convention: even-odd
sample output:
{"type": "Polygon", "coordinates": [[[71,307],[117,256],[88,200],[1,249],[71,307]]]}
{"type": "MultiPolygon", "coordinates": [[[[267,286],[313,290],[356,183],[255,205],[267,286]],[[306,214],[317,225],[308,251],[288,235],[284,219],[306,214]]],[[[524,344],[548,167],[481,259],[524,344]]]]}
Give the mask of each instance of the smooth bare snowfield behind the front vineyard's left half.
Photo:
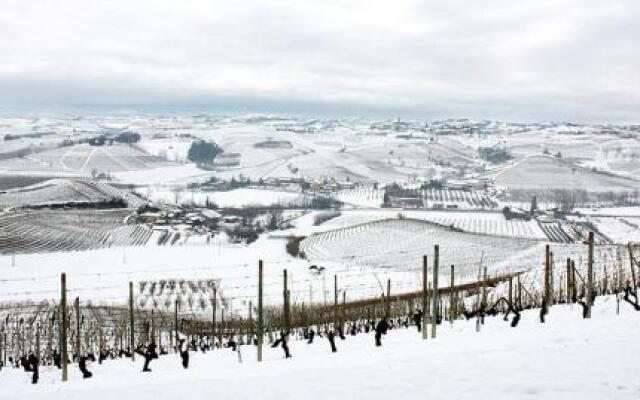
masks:
{"type": "Polygon", "coordinates": [[[220,235],[208,245],[18,255],[15,267],[12,257],[0,257],[0,302],[59,299],[60,273],[66,272],[69,296],[107,304],[126,303],[129,281],[220,279],[221,295],[240,299],[233,308],[245,311],[244,296],[256,295],[259,258],[264,260],[266,303],[281,300],[283,268],[291,269],[294,284],[308,275],[307,263],[286,254],[282,240],[263,236],[246,246],[227,243],[220,235]]]}

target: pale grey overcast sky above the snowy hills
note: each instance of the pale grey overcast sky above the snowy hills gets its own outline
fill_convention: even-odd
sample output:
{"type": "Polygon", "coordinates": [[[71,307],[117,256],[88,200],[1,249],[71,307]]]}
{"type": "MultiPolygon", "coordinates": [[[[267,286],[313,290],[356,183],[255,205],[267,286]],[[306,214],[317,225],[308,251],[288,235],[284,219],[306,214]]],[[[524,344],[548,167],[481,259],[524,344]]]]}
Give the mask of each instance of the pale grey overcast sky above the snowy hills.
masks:
{"type": "Polygon", "coordinates": [[[0,109],[640,120],[640,1],[3,0],[0,109]]]}

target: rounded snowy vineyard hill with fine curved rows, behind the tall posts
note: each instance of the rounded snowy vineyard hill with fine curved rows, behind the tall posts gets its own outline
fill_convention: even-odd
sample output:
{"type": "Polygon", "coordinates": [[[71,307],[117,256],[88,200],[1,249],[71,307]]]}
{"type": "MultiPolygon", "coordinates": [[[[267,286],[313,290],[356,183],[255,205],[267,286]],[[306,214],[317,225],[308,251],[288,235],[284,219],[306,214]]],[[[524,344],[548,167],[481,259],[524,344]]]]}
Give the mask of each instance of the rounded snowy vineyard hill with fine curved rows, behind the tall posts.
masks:
{"type": "MultiPolygon", "coordinates": [[[[545,243],[465,233],[421,220],[390,219],[312,235],[302,241],[300,248],[311,262],[334,261],[393,269],[417,266],[423,254],[431,253],[437,244],[446,244],[441,246],[441,259],[447,265],[455,265],[456,274],[465,279],[476,276],[481,264],[489,265],[492,273],[536,268],[545,243]]],[[[559,247],[578,253],[584,251],[582,244],[559,247]]]]}

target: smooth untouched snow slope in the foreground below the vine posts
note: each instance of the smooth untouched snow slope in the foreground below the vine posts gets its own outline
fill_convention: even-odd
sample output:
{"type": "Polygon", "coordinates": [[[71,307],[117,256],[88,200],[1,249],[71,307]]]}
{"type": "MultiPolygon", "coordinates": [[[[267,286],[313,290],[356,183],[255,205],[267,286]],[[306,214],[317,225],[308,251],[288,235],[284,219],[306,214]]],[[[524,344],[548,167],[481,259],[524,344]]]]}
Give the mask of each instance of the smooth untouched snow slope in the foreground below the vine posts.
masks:
{"type": "Polygon", "coordinates": [[[500,317],[487,318],[480,332],[475,321],[440,325],[435,340],[423,341],[415,328],[391,330],[383,347],[372,334],[313,344],[291,340],[293,358],[265,346],[258,364],[255,348],[241,346],[243,362],[231,350],[191,353],[190,367],[177,354],[151,363],[110,360],[89,366],[83,380],[76,365],[70,378],[41,369],[38,385],[18,369],[0,371],[2,399],[637,399],[635,355],[640,314],[615,297],[598,298],[593,318],[583,320],[579,306],[554,306],[547,323],[538,310],[525,311],[517,328],[500,317]]]}

